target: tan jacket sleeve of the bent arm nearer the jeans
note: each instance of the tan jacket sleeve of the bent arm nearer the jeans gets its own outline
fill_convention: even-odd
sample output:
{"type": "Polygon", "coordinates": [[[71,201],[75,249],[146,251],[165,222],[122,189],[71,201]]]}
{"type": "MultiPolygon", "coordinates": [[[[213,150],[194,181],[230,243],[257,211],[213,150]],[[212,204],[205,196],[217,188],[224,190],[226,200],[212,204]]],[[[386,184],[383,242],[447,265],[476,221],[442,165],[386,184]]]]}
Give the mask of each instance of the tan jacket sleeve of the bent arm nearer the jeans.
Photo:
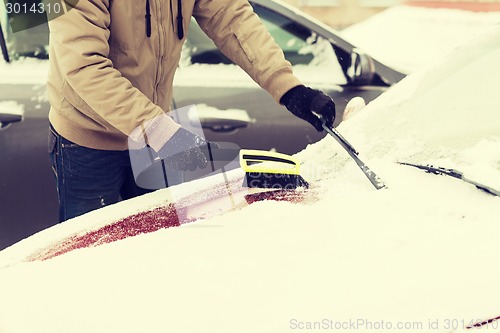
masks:
{"type": "Polygon", "coordinates": [[[65,78],[63,85],[125,135],[141,141],[148,126],[170,129],[170,133],[156,131],[161,137],[156,137],[152,146],[158,150],[179,126],[113,67],[108,43],[109,2],[78,1],[67,13],[50,20],[50,57],[55,58],[65,78]]]}

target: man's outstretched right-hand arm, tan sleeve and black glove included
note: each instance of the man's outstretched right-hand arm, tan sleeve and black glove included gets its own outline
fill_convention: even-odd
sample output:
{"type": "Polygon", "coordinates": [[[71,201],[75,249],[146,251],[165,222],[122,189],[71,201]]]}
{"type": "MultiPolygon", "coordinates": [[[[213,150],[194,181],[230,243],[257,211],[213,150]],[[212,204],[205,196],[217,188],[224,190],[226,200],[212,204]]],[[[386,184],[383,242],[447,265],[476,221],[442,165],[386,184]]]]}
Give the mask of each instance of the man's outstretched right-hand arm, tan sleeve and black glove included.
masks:
{"type": "Polygon", "coordinates": [[[331,128],[342,120],[329,96],[305,87],[293,75],[291,64],[247,0],[199,0],[193,15],[215,45],[292,114],[318,131],[323,122],[331,128]]]}

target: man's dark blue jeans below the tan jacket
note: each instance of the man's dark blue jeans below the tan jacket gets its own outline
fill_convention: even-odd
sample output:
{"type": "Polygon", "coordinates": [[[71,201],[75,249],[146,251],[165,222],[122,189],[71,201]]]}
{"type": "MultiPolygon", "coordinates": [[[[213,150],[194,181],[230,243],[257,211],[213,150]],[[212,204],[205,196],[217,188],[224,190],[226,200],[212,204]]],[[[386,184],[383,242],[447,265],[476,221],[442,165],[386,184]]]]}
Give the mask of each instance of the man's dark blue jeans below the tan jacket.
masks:
{"type": "Polygon", "coordinates": [[[151,192],[136,185],[127,150],[82,147],[51,127],[49,155],[57,181],[60,222],[151,192]]]}

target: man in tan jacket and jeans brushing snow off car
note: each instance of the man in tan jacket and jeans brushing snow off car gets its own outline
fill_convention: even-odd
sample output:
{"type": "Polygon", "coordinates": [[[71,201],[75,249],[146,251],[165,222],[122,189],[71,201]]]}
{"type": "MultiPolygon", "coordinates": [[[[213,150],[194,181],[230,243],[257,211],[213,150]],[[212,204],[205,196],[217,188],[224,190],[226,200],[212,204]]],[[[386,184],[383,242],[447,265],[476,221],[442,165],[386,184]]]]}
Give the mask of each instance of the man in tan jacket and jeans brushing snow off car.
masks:
{"type": "Polygon", "coordinates": [[[322,121],[333,126],[333,101],[293,75],[247,0],[66,2],[67,13],[49,22],[49,150],[61,221],[144,193],[129,138],[146,138],[172,170],[207,164],[208,143],[165,116],[191,16],[277,103],[318,131],[322,121]]]}

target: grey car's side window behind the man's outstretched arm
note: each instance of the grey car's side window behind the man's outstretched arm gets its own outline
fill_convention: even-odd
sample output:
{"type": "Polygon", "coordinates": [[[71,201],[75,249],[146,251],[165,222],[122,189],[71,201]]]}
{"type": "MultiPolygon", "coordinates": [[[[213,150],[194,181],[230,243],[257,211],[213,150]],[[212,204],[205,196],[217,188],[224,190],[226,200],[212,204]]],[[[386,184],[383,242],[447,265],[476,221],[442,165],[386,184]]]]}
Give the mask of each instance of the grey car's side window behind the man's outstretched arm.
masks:
{"type": "MultiPolygon", "coordinates": [[[[254,10],[292,65],[307,65],[314,62],[318,54],[312,46],[320,39],[315,33],[267,8],[254,5],[254,10]]],[[[332,47],[328,51],[334,54],[332,47]]],[[[194,19],[189,28],[183,58],[184,65],[232,63],[203,33],[194,19]]]]}

